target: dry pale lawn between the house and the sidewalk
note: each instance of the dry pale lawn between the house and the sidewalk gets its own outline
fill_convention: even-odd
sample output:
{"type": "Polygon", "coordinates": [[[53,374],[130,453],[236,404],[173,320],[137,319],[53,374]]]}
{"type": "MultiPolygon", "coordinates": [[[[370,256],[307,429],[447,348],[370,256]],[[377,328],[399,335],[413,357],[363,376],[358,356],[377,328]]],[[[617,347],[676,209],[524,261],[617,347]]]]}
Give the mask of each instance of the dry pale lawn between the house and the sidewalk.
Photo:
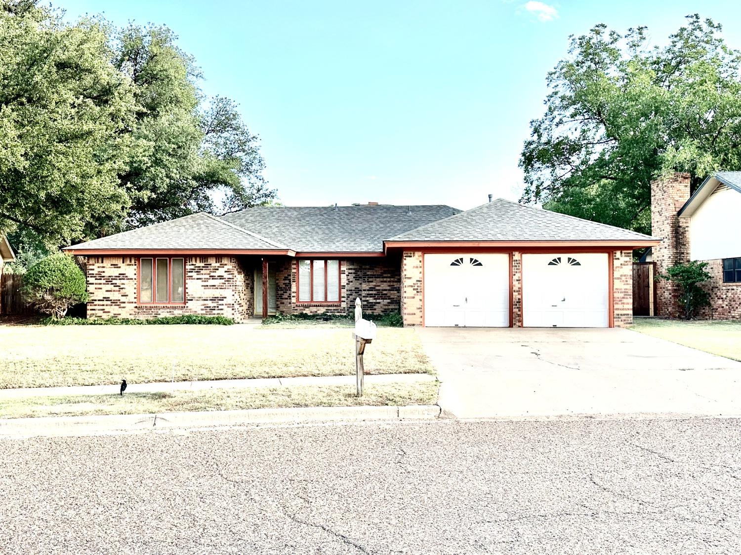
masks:
{"type": "MultiPolygon", "coordinates": [[[[353,349],[350,329],[325,326],[0,326],[0,388],[349,375],[353,349]]],[[[433,373],[399,328],[379,328],[365,369],[433,373]]]]}

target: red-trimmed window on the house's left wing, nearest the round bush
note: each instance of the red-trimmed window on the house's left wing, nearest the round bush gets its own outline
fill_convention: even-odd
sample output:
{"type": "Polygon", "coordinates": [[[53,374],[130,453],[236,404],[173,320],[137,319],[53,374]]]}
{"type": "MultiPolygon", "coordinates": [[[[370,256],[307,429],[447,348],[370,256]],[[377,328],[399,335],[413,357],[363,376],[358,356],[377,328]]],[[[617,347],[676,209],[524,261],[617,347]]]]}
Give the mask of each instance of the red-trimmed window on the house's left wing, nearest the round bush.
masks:
{"type": "Polygon", "coordinates": [[[139,258],[139,303],[184,304],[185,258],[139,258]]]}

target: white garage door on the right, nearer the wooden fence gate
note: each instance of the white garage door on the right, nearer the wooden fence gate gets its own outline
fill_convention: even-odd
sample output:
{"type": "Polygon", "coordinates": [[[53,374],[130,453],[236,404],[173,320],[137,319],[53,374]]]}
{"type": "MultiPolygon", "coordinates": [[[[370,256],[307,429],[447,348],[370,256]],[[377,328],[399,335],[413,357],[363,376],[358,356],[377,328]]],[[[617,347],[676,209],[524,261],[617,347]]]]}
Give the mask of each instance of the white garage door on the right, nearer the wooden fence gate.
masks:
{"type": "Polygon", "coordinates": [[[608,255],[522,255],[522,323],[606,328],[608,255]]]}

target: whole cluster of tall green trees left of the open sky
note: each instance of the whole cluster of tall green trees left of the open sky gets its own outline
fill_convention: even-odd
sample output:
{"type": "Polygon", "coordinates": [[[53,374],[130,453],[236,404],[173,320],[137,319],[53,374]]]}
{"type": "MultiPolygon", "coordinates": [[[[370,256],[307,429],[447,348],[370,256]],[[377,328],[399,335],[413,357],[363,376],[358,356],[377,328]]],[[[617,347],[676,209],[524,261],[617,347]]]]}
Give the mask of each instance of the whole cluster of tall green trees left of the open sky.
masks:
{"type": "Polygon", "coordinates": [[[60,246],[275,197],[233,101],[167,27],[0,0],[0,229],[60,246]]]}

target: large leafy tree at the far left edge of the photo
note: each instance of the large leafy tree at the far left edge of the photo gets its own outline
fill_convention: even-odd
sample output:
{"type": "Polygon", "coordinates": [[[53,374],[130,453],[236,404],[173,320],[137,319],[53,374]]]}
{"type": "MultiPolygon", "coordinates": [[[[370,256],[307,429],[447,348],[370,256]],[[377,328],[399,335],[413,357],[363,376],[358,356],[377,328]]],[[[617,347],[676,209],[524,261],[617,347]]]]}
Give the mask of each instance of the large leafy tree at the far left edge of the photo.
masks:
{"type": "Polygon", "coordinates": [[[124,217],[135,103],[111,55],[104,24],[0,0],[0,229],[59,244],[124,217]]]}

